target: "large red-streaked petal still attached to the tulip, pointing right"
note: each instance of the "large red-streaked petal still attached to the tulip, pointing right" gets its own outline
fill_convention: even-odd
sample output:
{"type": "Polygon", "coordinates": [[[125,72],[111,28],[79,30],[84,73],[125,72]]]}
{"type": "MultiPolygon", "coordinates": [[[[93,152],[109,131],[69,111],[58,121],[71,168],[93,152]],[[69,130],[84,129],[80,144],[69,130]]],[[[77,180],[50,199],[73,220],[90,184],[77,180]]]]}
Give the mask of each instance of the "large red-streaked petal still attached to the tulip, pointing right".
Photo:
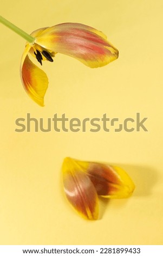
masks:
{"type": "Polygon", "coordinates": [[[118,58],[118,50],[106,35],[80,23],[62,23],[43,29],[35,42],[49,51],[60,52],[80,60],[90,68],[107,65],[118,58]]]}

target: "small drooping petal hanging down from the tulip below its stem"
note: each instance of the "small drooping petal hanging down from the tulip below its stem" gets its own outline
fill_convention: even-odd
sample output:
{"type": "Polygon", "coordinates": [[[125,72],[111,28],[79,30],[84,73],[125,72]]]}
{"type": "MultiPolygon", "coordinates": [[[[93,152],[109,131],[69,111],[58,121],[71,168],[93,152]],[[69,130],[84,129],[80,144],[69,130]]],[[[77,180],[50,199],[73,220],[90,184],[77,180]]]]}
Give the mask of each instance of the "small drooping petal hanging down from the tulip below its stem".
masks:
{"type": "Polygon", "coordinates": [[[44,106],[44,95],[48,88],[48,77],[28,57],[31,46],[27,45],[21,61],[21,79],[24,89],[38,105],[44,106]]]}

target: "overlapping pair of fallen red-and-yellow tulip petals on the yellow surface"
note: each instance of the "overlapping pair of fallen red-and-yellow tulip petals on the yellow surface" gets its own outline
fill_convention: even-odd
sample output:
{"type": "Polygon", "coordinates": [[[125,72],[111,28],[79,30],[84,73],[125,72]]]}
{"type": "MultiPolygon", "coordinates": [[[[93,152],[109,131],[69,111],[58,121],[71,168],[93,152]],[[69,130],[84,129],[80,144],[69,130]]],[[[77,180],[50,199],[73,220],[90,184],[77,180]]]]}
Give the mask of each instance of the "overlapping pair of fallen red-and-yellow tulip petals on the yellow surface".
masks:
{"type": "Polygon", "coordinates": [[[135,188],[131,178],[120,167],[70,157],[63,161],[62,176],[69,203],[87,220],[98,218],[98,196],[127,198],[135,188]]]}

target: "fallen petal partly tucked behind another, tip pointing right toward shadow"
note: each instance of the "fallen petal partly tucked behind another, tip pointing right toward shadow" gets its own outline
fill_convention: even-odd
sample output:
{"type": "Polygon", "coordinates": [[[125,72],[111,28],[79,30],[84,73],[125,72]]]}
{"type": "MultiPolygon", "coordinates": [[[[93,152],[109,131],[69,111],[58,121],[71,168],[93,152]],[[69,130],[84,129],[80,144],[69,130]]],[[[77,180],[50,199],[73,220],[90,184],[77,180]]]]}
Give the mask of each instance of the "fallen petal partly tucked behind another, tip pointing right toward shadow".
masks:
{"type": "Polygon", "coordinates": [[[125,170],[103,163],[74,161],[89,176],[99,196],[126,198],[133,193],[135,185],[125,170]]]}

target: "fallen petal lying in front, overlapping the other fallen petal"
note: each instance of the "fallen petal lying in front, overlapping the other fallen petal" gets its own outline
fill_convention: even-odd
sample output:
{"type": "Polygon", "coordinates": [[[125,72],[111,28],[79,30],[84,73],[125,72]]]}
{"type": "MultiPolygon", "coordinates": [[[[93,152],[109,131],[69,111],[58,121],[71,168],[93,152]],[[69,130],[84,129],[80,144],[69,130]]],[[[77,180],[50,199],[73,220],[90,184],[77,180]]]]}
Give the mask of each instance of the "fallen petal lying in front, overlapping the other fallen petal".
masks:
{"type": "Polygon", "coordinates": [[[89,177],[69,157],[64,159],[62,173],[64,192],[70,204],[87,220],[97,220],[98,198],[89,177]]]}

